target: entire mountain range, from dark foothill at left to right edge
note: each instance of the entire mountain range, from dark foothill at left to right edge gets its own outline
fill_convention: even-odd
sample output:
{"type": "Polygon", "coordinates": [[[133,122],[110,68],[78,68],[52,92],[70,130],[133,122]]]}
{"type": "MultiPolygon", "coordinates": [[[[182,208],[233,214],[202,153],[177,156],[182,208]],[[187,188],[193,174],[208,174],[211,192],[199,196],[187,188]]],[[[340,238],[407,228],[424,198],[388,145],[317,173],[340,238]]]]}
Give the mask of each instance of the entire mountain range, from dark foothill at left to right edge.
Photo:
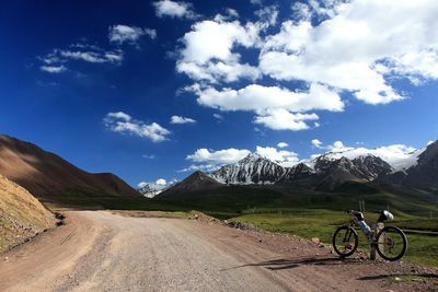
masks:
{"type": "Polygon", "coordinates": [[[315,191],[334,191],[354,182],[401,185],[428,191],[438,190],[438,141],[397,159],[378,156],[357,149],[332,151],[313,160],[284,167],[257,153],[211,173],[197,172],[160,196],[201,190],[224,185],[289,186],[315,191]],[[208,182],[208,184],[206,184],[208,182]]]}

